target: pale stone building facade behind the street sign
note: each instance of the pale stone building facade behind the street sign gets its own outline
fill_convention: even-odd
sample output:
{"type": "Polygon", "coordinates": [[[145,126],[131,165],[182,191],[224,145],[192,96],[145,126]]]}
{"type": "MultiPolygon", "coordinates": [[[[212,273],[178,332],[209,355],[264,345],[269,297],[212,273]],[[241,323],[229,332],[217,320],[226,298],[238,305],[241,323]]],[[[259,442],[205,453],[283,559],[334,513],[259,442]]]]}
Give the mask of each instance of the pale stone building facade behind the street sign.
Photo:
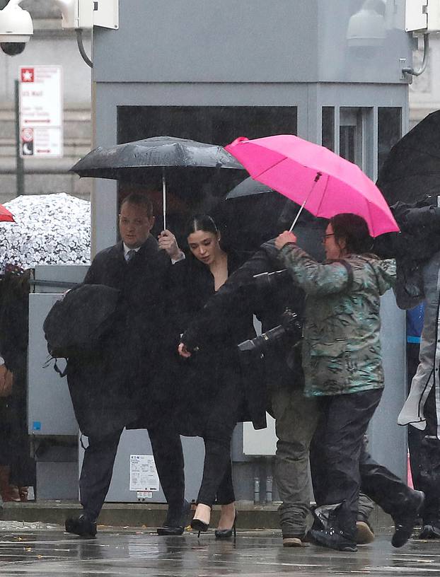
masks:
{"type": "MultiPolygon", "coordinates": [[[[6,0],[0,0],[0,8],[6,0]]],[[[91,181],[67,170],[91,148],[91,69],[76,46],[74,31],[62,30],[61,13],[51,0],[25,0],[34,23],[34,35],[22,54],[0,52],[0,203],[16,197],[16,141],[14,81],[20,66],[57,64],[63,69],[64,156],[25,158],[25,194],[67,192],[89,199],[91,181]]],[[[84,42],[90,54],[90,34],[84,42]]]]}

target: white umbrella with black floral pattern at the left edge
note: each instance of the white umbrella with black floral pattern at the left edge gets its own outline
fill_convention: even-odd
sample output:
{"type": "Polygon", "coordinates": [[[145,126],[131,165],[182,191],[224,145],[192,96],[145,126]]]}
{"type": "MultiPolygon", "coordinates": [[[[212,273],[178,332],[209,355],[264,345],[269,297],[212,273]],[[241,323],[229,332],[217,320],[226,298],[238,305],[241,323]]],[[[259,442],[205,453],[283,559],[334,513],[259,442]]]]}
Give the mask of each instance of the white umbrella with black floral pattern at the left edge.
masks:
{"type": "Polygon", "coordinates": [[[88,200],[65,192],[29,194],[4,204],[16,222],[0,223],[0,264],[89,264],[88,200]]]}

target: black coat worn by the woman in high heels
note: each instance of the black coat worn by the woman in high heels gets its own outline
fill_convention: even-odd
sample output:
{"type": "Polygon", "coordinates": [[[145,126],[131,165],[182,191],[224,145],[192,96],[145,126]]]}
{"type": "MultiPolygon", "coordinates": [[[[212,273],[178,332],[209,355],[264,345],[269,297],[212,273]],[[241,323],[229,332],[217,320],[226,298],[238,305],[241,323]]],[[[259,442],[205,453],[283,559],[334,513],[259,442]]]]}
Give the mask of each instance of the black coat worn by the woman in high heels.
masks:
{"type": "MultiPolygon", "coordinates": [[[[231,251],[227,254],[228,274],[232,274],[243,262],[243,255],[231,251]]],[[[209,322],[221,330],[198,333],[198,315],[215,294],[214,277],[209,267],[192,255],[175,264],[171,274],[175,340],[178,342],[188,325],[183,342],[200,336],[199,350],[190,359],[179,361],[175,426],[182,434],[204,436],[212,419],[218,421],[223,415],[227,421],[238,412],[238,420],[252,420],[255,428],[262,429],[266,426],[266,402],[261,371],[256,364],[241,366],[236,347],[255,337],[252,311],[238,308],[233,315],[224,315],[224,311],[216,310],[209,322]]]]}

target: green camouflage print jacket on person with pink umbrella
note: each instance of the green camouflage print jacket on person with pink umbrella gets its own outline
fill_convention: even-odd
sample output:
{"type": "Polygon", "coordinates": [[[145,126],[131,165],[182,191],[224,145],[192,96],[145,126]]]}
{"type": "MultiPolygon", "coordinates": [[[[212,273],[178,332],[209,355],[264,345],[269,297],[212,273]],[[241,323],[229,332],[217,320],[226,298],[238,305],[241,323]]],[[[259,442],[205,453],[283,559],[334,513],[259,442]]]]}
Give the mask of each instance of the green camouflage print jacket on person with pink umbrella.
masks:
{"type": "Polygon", "coordinates": [[[294,244],[285,245],[280,256],[306,293],[304,394],[341,395],[383,387],[379,297],[395,284],[395,261],[347,255],[346,264],[319,264],[294,244]]]}

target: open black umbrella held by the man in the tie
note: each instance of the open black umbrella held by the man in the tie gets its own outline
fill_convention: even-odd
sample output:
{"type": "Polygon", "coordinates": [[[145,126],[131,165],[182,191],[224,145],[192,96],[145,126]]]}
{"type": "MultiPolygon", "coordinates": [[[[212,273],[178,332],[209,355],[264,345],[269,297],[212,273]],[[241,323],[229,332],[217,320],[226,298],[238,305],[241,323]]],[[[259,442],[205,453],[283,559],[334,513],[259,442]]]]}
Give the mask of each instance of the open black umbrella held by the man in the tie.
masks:
{"type": "Polygon", "coordinates": [[[70,172],[81,177],[110,178],[158,186],[163,194],[163,228],[166,228],[166,178],[179,171],[179,178],[192,179],[212,175],[213,169],[244,170],[223,146],[206,144],[175,136],[153,136],[149,139],[118,144],[111,148],[98,146],[76,163],[70,172]],[[159,170],[158,170],[159,169],[159,170]],[[208,175],[200,174],[206,169],[208,175]]]}

